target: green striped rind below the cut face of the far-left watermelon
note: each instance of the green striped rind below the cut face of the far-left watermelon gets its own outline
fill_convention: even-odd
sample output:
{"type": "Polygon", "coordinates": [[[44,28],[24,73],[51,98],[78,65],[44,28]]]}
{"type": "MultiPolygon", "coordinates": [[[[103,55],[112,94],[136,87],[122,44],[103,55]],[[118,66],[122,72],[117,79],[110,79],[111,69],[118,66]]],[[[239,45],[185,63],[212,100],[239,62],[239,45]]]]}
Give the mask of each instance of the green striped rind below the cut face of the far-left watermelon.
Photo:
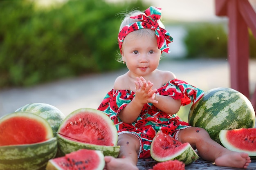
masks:
{"type": "Polygon", "coordinates": [[[56,152],[56,137],[36,144],[1,146],[0,170],[45,170],[56,152]]]}

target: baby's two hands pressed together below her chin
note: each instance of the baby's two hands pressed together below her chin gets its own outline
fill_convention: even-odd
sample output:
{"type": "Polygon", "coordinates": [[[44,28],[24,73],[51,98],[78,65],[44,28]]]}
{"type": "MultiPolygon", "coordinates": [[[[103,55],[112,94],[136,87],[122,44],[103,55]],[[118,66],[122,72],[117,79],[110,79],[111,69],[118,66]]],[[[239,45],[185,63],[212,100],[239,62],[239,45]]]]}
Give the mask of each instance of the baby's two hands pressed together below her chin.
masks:
{"type": "Polygon", "coordinates": [[[150,81],[146,82],[144,77],[137,77],[137,81],[135,81],[135,99],[141,104],[157,104],[158,101],[155,100],[157,89],[152,90],[153,85],[150,81]]]}

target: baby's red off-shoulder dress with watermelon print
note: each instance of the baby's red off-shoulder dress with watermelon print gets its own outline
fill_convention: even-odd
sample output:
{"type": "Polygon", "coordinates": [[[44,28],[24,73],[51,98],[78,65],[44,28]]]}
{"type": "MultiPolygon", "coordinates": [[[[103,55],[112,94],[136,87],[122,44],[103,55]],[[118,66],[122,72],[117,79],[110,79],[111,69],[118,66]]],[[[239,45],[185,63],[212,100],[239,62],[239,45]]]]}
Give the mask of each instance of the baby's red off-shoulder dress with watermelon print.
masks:
{"type": "MultiPolygon", "coordinates": [[[[204,91],[196,88],[186,82],[178,79],[172,79],[157,89],[157,94],[170,96],[173,99],[181,99],[182,106],[197,102],[203,95],[204,91]]],[[[136,121],[132,124],[126,124],[121,121],[118,114],[124,109],[135,97],[135,92],[130,90],[112,89],[104,97],[98,110],[105,112],[114,122],[118,135],[130,133],[140,140],[139,158],[150,157],[150,144],[158,130],[177,139],[180,129],[190,127],[188,123],[182,121],[176,114],[168,115],[152,103],[147,103],[141,110],[136,121]]]]}

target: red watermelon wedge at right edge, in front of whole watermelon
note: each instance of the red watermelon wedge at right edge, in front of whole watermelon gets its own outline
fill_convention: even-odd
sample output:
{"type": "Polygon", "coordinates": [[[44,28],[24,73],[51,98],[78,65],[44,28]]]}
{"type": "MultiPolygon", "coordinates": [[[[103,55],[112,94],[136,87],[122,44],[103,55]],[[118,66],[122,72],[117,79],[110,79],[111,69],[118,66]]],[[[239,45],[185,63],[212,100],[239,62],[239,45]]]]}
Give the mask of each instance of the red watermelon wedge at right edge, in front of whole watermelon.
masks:
{"type": "Polygon", "coordinates": [[[220,130],[220,141],[229,150],[256,156],[256,128],[220,130]]]}

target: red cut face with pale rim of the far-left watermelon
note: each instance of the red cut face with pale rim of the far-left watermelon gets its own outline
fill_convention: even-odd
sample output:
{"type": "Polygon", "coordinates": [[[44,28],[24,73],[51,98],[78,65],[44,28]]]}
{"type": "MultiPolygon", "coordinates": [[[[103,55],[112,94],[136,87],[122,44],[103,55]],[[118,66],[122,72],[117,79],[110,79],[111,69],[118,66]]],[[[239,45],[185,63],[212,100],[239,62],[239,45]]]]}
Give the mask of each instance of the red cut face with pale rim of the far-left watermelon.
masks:
{"type": "Polygon", "coordinates": [[[34,144],[53,137],[46,120],[32,113],[12,113],[1,118],[0,146],[34,144]]]}

